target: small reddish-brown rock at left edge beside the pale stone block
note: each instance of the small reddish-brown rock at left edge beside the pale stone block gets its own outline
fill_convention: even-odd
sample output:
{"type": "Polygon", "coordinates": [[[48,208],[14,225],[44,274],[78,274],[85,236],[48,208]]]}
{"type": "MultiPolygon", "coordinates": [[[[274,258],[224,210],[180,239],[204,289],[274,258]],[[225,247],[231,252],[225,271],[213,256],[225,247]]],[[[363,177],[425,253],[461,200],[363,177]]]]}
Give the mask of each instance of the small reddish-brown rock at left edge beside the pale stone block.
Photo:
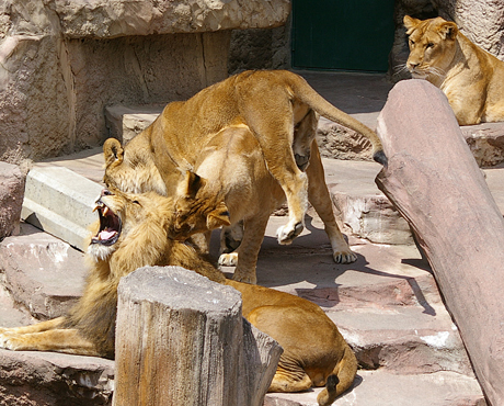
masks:
{"type": "Polygon", "coordinates": [[[0,161],[0,240],[19,232],[24,182],[18,166],[0,161]]]}

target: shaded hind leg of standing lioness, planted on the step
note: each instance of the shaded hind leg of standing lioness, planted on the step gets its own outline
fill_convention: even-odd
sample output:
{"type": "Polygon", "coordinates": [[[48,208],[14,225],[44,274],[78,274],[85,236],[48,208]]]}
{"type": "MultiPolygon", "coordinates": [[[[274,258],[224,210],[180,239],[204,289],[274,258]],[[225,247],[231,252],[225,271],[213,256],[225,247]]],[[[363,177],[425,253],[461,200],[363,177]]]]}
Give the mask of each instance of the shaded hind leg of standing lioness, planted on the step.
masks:
{"type": "Polygon", "coordinates": [[[325,233],[331,241],[334,261],[336,263],[351,263],[356,261],[357,256],[350,248],[334,217],[333,205],[325,184],[319,148],[314,140],[311,145],[311,159],[310,166],[307,169],[307,174],[309,179],[308,198],[324,223],[325,233]]]}

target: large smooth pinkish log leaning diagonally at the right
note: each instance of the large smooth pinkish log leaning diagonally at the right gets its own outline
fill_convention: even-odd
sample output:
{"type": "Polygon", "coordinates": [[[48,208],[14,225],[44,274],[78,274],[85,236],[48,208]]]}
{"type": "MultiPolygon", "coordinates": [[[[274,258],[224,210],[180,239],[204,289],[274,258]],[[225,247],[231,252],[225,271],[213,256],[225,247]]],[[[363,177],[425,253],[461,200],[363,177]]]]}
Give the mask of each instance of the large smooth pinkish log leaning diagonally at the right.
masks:
{"type": "Polygon", "coordinates": [[[378,119],[376,182],[410,223],[491,405],[504,405],[504,219],[443,92],[401,81],[378,119]]]}

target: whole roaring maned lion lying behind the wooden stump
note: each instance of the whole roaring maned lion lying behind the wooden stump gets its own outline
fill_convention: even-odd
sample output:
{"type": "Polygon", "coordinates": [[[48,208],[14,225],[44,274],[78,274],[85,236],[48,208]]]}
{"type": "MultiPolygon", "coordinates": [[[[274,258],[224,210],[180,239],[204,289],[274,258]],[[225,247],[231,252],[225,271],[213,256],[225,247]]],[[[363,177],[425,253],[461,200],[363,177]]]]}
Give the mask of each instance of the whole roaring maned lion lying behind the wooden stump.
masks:
{"type": "MultiPolygon", "coordinates": [[[[229,224],[222,202],[202,217],[208,227],[229,224]]],[[[320,405],[330,405],[353,383],[357,362],[336,326],[317,305],[256,285],[226,281],[209,261],[172,233],[174,203],[156,193],[104,192],[98,201],[100,224],[87,257],[84,293],[71,311],[27,327],[0,328],[0,347],[114,357],[117,285],[144,266],[181,266],[228,283],[242,293],[243,315],[284,348],[271,391],[295,392],[323,386],[320,405]]]]}

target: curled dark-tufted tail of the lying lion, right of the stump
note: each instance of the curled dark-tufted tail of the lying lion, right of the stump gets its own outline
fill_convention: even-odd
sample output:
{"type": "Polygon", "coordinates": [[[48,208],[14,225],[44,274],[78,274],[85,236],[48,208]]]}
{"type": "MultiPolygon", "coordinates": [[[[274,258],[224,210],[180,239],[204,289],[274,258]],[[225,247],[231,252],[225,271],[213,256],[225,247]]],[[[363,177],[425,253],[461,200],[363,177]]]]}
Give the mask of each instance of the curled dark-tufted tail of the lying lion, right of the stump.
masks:
{"type": "Polygon", "coordinates": [[[342,360],[325,380],[325,387],[317,396],[320,406],[331,405],[337,396],[347,391],[354,383],[357,373],[357,359],[354,351],[346,346],[342,360]]]}

